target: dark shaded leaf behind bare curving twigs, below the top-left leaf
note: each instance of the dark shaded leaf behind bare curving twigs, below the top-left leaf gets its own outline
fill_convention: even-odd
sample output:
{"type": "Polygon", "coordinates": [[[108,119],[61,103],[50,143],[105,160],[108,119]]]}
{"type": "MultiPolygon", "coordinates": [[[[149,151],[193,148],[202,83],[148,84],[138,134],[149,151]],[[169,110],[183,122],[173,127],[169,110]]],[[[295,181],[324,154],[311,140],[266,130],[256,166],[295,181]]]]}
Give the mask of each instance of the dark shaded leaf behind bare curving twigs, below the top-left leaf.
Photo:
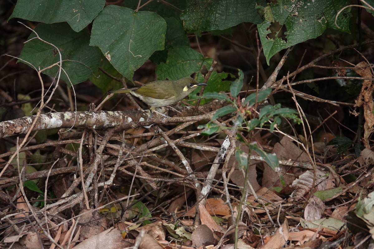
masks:
{"type": "MultiPolygon", "coordinates": [[[[64,68],[69,78],[64,72],[61,72],[61,78],[67,84],[70,84],[69,79],[73,85],[85,81],[99,68],[100,51],[97,47],[89,46],[89,34],[87,30],[77,33],[66,23],[40,23],[36,26],[35,31],[40,38],[58,47],[62,55],[62,60],[78,61],[62,62],[62,68],[64,68]]],[[[34,37],[36,35],[32,32],[28,39],[34,37]]],[[[56,53],[54,47],[38,39],[34,39],[25,44],[20,58],[30,62],[36,68],[40,66],[43,69],[59,61],[60,58],[56,53]]],[[[44,72],[50,77],[55,77],[57,71],[58,66],[54,66],[44,72]]]]}

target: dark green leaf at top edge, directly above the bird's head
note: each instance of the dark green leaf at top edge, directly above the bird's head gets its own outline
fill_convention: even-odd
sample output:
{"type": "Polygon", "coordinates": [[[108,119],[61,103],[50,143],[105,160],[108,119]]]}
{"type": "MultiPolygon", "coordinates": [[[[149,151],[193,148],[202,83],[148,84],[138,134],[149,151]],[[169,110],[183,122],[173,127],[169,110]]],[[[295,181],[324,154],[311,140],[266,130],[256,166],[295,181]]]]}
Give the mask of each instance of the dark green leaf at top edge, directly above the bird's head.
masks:
{"type": "Polygon", "coordinates": [[[181,19],[184,27],[193,32],[223,30],[241,22],[258,24],[262,19],[255,9],[256,2],[266,4],[263,0],[190,0],[181,19]]]}

